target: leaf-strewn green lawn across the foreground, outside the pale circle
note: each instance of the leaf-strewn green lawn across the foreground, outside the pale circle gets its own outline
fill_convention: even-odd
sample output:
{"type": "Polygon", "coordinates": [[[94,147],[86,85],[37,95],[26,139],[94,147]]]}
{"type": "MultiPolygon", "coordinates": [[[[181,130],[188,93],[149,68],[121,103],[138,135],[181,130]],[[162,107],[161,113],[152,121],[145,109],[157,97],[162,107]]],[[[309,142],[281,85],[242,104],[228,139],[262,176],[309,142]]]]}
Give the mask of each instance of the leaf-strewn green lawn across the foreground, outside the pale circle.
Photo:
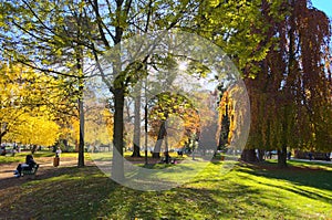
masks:
{"type": "Polygon", "coordinates": [[[0,219],[331,219],[332,168],[304,165],[239,163],[220,175],[222,163],[211,163],[165,191],[128,189],[94,166],[60,167],[1,191],[0,219]]]}

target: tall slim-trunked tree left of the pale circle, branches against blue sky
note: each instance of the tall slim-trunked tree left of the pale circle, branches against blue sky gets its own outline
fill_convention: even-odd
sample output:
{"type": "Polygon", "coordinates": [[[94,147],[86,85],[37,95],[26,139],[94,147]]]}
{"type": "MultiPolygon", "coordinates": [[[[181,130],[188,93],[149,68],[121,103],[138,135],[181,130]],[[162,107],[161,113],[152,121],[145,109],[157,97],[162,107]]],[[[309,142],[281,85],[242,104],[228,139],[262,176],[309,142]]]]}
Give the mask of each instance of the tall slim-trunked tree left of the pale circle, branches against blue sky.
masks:
{"type": "Polygon", "coordinates": [[[83,91],[87,75],[89,20],[83,1],[11,1],[6,9],[1,38],[6,54],[34,70],[65,80],[76,97],[80,117],[79,166],[84,166],[83,91]]]}

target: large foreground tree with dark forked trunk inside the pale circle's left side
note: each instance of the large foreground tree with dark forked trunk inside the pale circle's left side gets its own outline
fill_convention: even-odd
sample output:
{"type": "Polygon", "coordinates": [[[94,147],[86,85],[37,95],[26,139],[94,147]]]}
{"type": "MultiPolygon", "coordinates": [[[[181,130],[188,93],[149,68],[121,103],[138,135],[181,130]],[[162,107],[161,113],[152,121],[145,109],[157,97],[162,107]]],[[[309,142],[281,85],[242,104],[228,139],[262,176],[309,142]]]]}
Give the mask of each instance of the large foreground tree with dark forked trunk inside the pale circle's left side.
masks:
{"type": "MultiPolygon", "coordinates": [[[[89,6],[94,13],[98,27],[100,38],[105,49],[110,49],[112,45],[116,45],[124,39],[135,34],[137,29],[143,30],[143,32],[152,32],[156,29],[169,30],[179,25],[184,20],[189,21],[189,14],[191,11],[195,11],[195,4],[197,4],[189,0],[180,2],[116,0],[114,3],[108,1],[103,3],[96,0],[89,1],[89,6]],[[108,20],[111,20],[112,27],[105,25],[108,23],[108,20]],[[138,20],[139,23],[136,22],[138,20]]],[[[94,50],[93,52],[95,54],[95,61],[98,62],[98,51],[94,50]]],[[[104,77],[105,74],[103,70],[100,69],[104,82],[114,96],[114,155],[123,155],[123,109],[126,90],[137,82],[137,76],[139,78],[139,74],[142,73],[139,70],[145,70],[144,63],[147,57],[144,59],[145,61],[141,61],[142,65],[139,65],[138,69],[136,67],[135,71],[125,69],[120,72],[121,60],[120,56],[115,56],[112,70],[115,75],[115,78],[112,81],[113,83],[110,83],[108,78],[104,77]],[[133,77],[133,74],[136,74],[136,76],[133,77]],[[136,78],[136,81],[134,78],[136,78]]],[[[123,179],[123,159],[113,157],[112,176],[116,179],[123,179]]]]}

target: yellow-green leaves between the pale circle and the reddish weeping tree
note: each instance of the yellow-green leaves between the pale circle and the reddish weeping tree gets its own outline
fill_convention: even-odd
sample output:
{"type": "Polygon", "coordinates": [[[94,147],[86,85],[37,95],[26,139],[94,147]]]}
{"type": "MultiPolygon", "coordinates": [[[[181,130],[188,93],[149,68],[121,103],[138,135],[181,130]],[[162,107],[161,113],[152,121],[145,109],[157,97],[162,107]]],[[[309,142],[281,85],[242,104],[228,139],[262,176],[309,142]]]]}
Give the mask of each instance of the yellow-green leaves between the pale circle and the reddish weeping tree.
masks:
{"type": "Polygon", "coordinates": [[[246,77],[255,77],[259,71],[256,63],[277,40],[269,34],[269,21],[282,20],[287,13],[283,0],[209,0],[200,4],[195,18],[199,28],[194,31],[221,46],[239,70],[246,70],[246,77]]]}

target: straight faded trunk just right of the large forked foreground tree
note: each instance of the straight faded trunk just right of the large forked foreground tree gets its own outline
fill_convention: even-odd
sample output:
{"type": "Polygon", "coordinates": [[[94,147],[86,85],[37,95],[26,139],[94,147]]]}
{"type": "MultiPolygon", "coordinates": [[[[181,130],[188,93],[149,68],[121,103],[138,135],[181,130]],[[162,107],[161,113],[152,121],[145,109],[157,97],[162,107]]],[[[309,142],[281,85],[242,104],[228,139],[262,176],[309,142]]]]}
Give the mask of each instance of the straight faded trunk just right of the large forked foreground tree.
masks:
{"type": "MultiPolygon", "coordinates": [[[[139,82],[138,82],[139,83],[139,82]]],[[[135,97],[135,119],[134,119],[134,151],[132,157],[141,157],[139,148],[141,148],[141,87],[137,85],[136,97],[135,97]]]]}

